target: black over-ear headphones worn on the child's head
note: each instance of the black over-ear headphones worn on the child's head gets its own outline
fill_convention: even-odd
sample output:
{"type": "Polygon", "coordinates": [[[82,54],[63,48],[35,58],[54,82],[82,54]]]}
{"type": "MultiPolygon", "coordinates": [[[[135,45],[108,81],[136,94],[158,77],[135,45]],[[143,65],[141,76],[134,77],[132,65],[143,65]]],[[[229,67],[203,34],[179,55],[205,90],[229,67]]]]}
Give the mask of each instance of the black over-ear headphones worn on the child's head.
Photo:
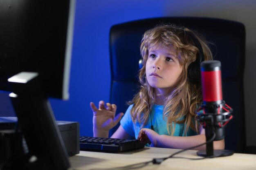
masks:
{"type": "MultiPolygon", "coordinates": [[[[196,59],[194,62],[189,64],[188,67],[188,80],[191,84],[198,84],[201,82],[201,73],[200,73],[200,64],[204,61],[204,52],[201,43],[199,40],[193,35],[193,33],[190,33],[188,31],[184,31],[185,34],[188,34],[192,40],[195,42],[195,46],[199,49],[199,53],[197,53],[196,59]]],[[[139,60],[139,69],[143,66],[143,59],[141,58],[139,60]]]]}

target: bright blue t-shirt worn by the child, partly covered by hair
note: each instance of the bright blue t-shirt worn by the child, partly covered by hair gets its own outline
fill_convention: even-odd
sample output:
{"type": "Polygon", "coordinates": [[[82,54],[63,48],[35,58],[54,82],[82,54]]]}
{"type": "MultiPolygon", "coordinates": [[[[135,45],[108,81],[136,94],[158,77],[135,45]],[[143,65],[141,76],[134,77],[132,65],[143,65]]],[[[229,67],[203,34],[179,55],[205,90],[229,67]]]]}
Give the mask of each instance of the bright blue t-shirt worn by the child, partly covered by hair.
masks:
{"type": "MultiPolygon", "coordinates": [[[[151,129],[151,120],[149,117],[148,122],[144,127],[141,127],[141,124],[139,124],[138,122],[134,124],[132,122],[132,117],[130,115],[130,110],[132,109],[132,106],[133,105],[130,105],[128,107],[128,109],[126,110],[126,113],[124,114],[124,117],[122,117],[120,121],[120,124],[130,136],[137,139],[141,128],[151,129]]],[[[153,108],[151,110],[152,125],[154,126],[155,132],[157,132],[159,135],[169,135],[167,131],[167,126],[166,126],[167,119],[166,118],[163,119],[163,110],[164,110],[164,106],[157,105],[157,104],[153,105],[153,108]]],[[[173,136],[184,136],[184,130],[186,127],[183,128],[183,126],[184,124],[176,124],[175,132],[173,136]]],[[[194,135],[198,135],[198,134],[189,128],[186,136],[194,136],[194,135]]]]}

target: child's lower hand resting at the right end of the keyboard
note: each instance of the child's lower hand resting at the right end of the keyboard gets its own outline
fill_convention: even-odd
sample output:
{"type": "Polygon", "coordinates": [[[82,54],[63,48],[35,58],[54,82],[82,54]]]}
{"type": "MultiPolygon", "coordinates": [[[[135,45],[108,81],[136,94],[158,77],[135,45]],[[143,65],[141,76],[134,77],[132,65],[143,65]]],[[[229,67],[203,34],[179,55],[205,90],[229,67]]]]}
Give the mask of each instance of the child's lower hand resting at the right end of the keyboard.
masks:
{"type": "Polygon", "coordinates": [[[154,130],[143,128],[139,131],[138,140],[142,141],[144,144],[150,144],[152,147],[157,147],[157,137],[159,134],[154,130]]]}

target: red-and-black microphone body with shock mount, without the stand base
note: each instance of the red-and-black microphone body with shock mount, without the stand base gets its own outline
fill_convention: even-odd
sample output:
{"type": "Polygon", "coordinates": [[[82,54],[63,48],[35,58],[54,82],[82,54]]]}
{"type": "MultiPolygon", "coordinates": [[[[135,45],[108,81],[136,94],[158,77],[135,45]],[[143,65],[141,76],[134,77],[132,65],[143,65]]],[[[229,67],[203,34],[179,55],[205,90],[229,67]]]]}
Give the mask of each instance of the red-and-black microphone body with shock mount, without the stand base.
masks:
{"type": "Polygon", "coordinates": [[[221,63],[217,60],[205,61],[201,63],[200,68],[203,95],[200,122],[204,128],[213,128],[216,133],[214,140],[221,140],[225,137],[223,127],[232,119],[230,113],[233,111],[222,99],[221,63]],[[207,125],[207,122],[202,120],[209,115],[213,119],[213,125],[207,125]]]}

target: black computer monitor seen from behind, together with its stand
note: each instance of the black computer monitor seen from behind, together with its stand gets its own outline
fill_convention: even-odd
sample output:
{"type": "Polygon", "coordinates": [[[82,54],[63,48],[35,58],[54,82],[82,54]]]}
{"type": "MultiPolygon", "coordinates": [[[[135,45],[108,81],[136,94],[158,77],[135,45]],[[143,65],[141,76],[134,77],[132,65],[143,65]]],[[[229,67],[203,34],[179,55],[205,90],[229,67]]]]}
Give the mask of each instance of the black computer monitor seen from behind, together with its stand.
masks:
{"type": "Polygon", "coordinates": [[[29,168],[70,167],[47,98],[69,98],[74,11],[75,0],[0,1],[0,91],[10,92],[29,168]]]}

